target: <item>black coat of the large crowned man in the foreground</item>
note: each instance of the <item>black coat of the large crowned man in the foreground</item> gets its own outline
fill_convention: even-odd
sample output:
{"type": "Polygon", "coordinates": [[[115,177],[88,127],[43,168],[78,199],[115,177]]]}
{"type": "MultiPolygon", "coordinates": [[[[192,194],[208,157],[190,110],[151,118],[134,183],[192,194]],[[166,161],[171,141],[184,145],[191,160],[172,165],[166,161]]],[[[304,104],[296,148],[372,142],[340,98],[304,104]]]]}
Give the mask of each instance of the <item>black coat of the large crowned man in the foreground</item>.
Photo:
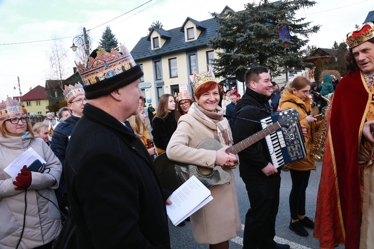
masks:
{"type": "Polygon", "coordinates": [[[86,104],[66,150],[65,179],[78,248],[170,248],[153,161],[118,120],[86,104]]]}

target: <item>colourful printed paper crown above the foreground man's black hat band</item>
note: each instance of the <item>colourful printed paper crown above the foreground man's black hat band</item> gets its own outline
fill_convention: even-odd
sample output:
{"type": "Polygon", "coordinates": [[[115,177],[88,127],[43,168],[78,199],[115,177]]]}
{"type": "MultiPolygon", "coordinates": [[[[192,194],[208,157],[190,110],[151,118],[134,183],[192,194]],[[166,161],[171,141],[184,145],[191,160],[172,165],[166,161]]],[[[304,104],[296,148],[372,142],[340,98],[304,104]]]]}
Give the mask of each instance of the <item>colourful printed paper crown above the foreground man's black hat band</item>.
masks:
{"type": "Polygon", "coordinates": [[[136,66],[126,46],[121,47],[122,53],[114,48],[110,52],[105,51],[101,46],[97,47],[96,57],[89,57],[87,68],[79,62],[77,69],[85,86],[95,84],[99,81],[111,78],[136,66]]]}

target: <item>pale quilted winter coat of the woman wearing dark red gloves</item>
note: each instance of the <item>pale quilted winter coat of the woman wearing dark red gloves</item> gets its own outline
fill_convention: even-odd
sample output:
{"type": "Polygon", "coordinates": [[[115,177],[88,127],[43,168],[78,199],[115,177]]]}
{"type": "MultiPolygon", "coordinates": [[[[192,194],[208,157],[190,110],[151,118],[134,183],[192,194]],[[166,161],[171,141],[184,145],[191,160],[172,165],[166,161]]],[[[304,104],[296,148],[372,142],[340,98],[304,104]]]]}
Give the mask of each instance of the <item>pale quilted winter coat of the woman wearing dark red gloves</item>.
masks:
{"type": "Polygon", "coordinates": [[[22,240],[18,249],[35,248],[55,239],[61,230],[59,210],[54,190],[58,187],[62,166],[47,143],[40,138],[8,137],[0,135],[0,248],[14,249],[20,238],[25,209],[25,191],[15,190],[13,181],[3,169],[29,147],[47,163],[45,173],[32,172],[32,182],[26,195],[26,219],[22,240]]]}

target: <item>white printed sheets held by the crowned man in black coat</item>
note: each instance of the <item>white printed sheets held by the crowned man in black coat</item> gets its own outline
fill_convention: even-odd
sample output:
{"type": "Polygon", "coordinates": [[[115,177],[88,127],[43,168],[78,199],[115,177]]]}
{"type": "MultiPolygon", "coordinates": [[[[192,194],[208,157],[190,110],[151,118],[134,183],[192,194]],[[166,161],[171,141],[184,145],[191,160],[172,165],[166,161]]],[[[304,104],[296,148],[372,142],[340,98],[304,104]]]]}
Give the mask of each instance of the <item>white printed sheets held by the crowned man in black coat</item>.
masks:
{"type": "Polygon", "coordinates": [[[195,176],[189,178],[169,198],[173,204],[166,205],[166,211],[174,226],[213,200],[210,190],[195,176]]]}

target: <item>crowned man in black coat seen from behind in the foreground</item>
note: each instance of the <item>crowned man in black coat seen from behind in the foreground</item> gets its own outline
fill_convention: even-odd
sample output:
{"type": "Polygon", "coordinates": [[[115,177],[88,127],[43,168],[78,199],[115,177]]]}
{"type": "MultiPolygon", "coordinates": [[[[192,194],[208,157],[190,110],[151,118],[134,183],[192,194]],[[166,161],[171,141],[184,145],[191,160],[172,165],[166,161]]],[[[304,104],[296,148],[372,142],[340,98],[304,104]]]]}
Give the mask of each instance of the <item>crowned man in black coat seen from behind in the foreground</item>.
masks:
{"type": "Polygon", "coordinates": [[[90,68],[78,65],[88,103],[64,167],[77,248],[170,248],[166,198],[153,161],[125,124],[138,113],[143,72],[122,51],[98,47],[90,68]]]}

